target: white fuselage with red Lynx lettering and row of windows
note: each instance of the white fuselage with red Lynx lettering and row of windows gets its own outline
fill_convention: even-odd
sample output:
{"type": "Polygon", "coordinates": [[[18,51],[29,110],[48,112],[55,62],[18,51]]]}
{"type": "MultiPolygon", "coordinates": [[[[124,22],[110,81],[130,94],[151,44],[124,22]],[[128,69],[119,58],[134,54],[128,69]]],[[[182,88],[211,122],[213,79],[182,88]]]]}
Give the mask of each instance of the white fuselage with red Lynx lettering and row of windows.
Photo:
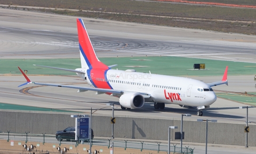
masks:
{"type": "MultiPolygon", "coordinates": [[[[148,94],[152,102],[199,107],[210,106],[217,99],[209,85],[185,77],[109,69],[104,79],[97,80],[108,82],[114,90],[148,94]]],[[[87,82],[93,85],[91,79],[87,82]]]]}

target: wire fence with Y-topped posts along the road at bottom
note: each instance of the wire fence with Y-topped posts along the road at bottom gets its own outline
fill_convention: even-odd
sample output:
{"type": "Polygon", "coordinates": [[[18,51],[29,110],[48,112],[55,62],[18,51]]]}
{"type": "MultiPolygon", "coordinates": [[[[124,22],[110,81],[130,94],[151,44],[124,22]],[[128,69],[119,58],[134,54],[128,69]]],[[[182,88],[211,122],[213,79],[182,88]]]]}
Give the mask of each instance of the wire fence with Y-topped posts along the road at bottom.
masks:
{"type": "MultiPolygon", "coordinates": [[[[57,141],[55,135],[47,135],[45,133],[42,134],[30,134],[25,132],[24,134],[18,134],[18,133],[10,133],[10,131],[7,131],[6,133],[0,133],[0,138],[3,140],[6,140],[6,142],[11,141],[25,141],[25,143],[28,142],[40,142],[40,143],[53,143],[58,144],[58,146],[61,146],[62,144],[68,144],[68,145],[74,145],[75,147],[79,147],[81,145],[90,145],[89,141],[85,142],[77,142],[76,140],[70,139],[70,140],[60,140],[57,141]]],[[[67,138],[66,138],[67,139],[67,138]]],[[[116,148],[122,148],[124,150],[127,149],[138,149],[140,151],[143,150],[153,150],[159,152],[166,152],[168,151],[168,145],[167,143],[161,143],[161,142],[149,142],[149,141],[130,141],[130,140],[121,140],[121,139],[93,139],[92,140],[92,146],[98,145],[101,147],[107,147],[110,148],[110,145],[114,143],[114,146],[116,148]]],[[[2,145],[0,145],[1,147],[2,145]]],[[[0,149],[3,150],[3,147],[0,149]]],[[[7,150],[7,149],[5,149],[7,150]]],[[[180,153],[181,149],[180,147],[177,147],[177,145],[172,144],[170,146],[170,152],[173,153],[180,153]]],[[[182,153],[188,153],[193,154],[194,149],[190,147],[182,148],[182,153]]],[[[1,150],[0,150],[1,153],[1,150]]]]}

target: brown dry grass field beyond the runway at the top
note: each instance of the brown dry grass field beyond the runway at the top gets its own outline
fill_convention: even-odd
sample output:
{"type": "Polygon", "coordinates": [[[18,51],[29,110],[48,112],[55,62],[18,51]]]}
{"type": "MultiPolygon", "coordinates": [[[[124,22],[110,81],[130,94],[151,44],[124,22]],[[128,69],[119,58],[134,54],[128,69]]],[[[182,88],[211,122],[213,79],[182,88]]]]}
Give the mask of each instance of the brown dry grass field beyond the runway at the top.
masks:
{"type": "MultiPolygon", "coordinates": [[[[255,9],[126,0],[78,0],[75,2],[69,0],[13,0],[11,2],[0,0],[0,3],[43,7],[42,9],[21,8],[21,10],[256,35],[255,9]],[[44,9],[44,7],[53,9],[44,9]],[[76,9],[76,11],[71,11],[71,9],[76,9]]],[[[237,4],[238,1],[229,1],[229,3],[237,4]]],[[[255,1],[246,1],[246,5],[255,5],[255,1]]],[[[18,8],[14,7],[14,9],[18,8]]]]}

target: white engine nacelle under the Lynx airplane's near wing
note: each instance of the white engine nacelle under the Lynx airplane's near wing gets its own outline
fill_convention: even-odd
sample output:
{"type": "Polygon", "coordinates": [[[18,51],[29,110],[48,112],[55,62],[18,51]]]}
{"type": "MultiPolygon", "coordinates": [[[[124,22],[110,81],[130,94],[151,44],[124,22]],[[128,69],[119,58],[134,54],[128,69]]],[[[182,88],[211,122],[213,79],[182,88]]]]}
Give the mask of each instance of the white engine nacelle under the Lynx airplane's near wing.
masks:
{"type": "Polygon", "coordinates": [[[119,98],[119,103],[125,108],[139,109],[143,107],[145,99],[139,93],[124,93],[119,98]]]}

